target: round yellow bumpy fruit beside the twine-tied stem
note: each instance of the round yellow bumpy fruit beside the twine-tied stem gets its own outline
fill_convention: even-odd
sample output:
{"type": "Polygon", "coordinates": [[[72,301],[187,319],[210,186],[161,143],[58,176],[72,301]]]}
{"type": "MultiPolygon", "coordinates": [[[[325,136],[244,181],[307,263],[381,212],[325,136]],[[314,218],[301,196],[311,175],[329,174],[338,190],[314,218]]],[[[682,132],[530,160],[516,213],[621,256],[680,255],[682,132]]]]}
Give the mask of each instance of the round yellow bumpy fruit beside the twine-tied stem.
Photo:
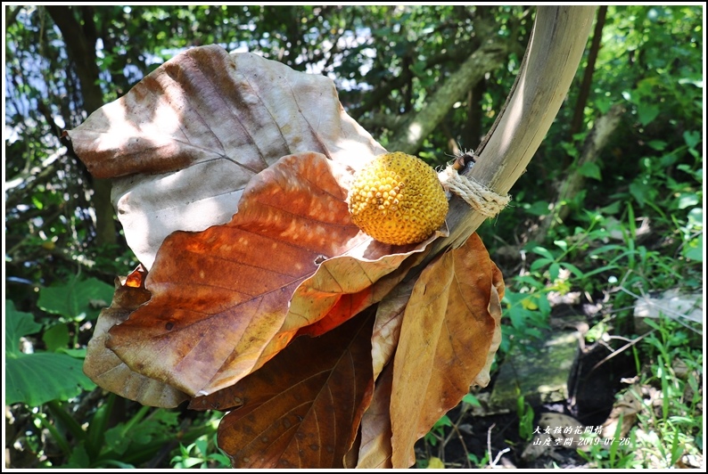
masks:
{"type": "Polygon", "coordinates": [[[354,176],[349,192],[354,224],[377,241],[424,241],[442,225],[448,200],[435,170],[401,151],[373,159],[354,176]]]}

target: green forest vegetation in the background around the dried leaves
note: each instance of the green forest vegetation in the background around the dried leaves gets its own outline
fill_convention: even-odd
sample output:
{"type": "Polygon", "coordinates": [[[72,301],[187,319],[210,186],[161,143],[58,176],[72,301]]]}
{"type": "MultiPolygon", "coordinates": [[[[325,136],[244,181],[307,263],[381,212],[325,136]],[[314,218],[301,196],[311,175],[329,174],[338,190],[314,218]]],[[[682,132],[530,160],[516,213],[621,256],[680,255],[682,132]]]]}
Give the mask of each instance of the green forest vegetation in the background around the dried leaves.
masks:
{"type": "MultiPolygon", "coordinates": [[[[481,142],[534,17],[523,6],[4,8],[5,467],[13,468],[228,464],[215,447],[218,417],[143,407],[80,372],[114,277],[137,262],[110,184],[88,175],[62,130],[174,54],[216,43],[333,78],[345,109],[384,146],[440,166],[481,142]],[[434,106],[432,94],[487,43],[498,61],[484,78],[422,142],[402,142],[401,127],[434,106]]],[[[574,291],[578,306],[602,302],[589,326],[630,341],[640,383],[663,392],[658,415],[632,429],[633,445],[586,454],[590,467],[666,467],[703,455],[693,329],[667,322],[639,339],[631,317],[642,294],[704,286],[703,14],[698,5],[599,8],[576,81],[512,190],[513,206],[479,230],[506,278],[498,360],[547,327],[549,294],[574,291]],[[603,117],[616,120],[591,149],[603,117]]],[[[457,429],[445,425],[426,440],[457,429]]],[[[492,461],[486,449],[468,453],[470,465],[492,461]]]]}

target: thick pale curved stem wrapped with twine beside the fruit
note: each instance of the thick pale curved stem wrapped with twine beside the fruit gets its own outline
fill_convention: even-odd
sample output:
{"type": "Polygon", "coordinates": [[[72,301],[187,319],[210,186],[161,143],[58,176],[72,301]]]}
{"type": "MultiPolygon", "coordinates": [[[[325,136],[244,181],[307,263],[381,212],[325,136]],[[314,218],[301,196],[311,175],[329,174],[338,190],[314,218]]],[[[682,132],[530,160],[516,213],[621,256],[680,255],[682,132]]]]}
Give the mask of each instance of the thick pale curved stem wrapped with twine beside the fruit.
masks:
{"type": "MultiPolygon", "coordinates": [[[[538,7],[515,86],[469,173],[479,183],[506,194],[523,175],[570,89],[595,10],[595,6],[538,7]]],[[[462,245],[485,218],[453,197],[447,219],[450,235],[433,243],[429,258],[462,245]]]]}

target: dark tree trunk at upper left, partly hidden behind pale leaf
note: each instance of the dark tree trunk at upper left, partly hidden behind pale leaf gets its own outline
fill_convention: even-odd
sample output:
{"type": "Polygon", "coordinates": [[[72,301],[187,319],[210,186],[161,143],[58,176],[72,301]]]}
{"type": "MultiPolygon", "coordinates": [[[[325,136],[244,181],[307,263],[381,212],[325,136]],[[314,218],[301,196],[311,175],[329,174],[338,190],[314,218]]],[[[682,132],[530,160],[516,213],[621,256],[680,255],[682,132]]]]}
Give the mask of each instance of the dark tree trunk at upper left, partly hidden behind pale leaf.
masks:
{"type": "MultiPolygon", "coordinates": [[[[91,17],[91,7],[83,9],[84,25],[81,25],[69,6],[45,6],[62,31],[70,60],[76,65],[76,73],[81,85],[84,110],[91,114],[103,106],[103,91],[98,85],[98,65],[95,53],[95,28],[91,17]]],[[[115,244],[115,211],[111,203],[111,182],[107,179],[94,179],[94,209],[96,218],[96,245],[115,244]]]]}

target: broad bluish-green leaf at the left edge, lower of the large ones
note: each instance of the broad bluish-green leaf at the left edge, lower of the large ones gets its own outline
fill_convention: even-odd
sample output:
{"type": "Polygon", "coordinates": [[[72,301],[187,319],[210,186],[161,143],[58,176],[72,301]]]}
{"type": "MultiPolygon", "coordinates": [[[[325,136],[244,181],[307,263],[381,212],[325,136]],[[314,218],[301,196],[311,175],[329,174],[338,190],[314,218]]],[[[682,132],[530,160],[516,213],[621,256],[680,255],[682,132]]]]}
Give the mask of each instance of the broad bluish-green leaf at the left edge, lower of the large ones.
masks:
{"type": "Polygon", "coordinates": [[[65,354],[40,352],[5,361],[5,404],[39,406],[69,400],[82,388],[95,388],[82,371],[84,361],[65,354]]]}

